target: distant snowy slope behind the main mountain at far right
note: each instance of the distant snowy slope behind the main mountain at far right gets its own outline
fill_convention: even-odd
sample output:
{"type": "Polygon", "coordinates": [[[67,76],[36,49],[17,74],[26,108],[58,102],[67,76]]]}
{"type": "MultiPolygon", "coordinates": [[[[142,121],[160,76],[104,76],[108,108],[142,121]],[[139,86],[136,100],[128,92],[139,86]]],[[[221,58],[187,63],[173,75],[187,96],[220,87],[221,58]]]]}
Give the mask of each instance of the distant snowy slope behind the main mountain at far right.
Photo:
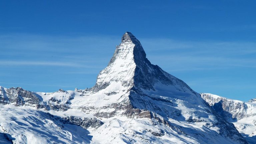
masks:
{"type": "Polygon", "coordinates": [[[202,93],[202,98],[251,143],[256,143],[256,103],[202,93]]]}

